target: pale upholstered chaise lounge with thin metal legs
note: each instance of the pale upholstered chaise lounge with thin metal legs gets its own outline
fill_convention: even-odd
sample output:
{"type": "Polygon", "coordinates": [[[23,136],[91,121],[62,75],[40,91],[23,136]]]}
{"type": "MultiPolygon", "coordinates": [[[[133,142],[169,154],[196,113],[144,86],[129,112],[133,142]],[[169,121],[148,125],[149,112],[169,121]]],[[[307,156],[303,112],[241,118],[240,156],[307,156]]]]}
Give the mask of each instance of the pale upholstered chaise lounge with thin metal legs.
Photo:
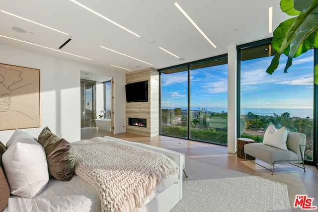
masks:
{"type": "Polygon", "coordinates": [[[247,143],[244,145],[244,160],[246,160],[246,155],[248,154],[273,164],[272,174],[274,173],[276,163],[302,162],[304,168],[295,164],[293,165],[303,168],[304,172],[306,172],[304,165],[305,143],[305,134],[287,131],[287,150],[264,143],[247,143]]]}

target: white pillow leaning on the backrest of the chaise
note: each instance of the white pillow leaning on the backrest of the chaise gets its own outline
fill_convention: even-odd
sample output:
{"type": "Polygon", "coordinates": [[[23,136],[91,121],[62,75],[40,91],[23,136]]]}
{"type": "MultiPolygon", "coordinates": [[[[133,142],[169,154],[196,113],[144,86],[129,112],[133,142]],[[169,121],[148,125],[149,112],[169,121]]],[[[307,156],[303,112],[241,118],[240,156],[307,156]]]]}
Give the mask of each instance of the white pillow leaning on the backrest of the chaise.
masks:
{"type": "Polygon", "coordinates": [[[285,126],[276,130],[273,125],[269,125],[264,134],[263,143],[276,148],[288,150],[286,144],[287,136],[288,133],[285,126]]]}

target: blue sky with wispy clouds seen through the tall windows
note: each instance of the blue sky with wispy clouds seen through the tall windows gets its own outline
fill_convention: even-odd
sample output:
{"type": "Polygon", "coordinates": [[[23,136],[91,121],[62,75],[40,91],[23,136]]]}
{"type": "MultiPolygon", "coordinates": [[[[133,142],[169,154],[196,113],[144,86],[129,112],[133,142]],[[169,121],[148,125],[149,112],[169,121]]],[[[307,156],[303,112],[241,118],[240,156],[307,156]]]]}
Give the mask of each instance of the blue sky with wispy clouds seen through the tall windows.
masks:
{"type": "MultiPolygon", "coordinates": [[[[241,108],[313,108],[314,51],[295,58],[284,73],[287,57],[278,69],[266,73],[272,57],[241,62],[241,108]]],[[[227,108],[227,65],[191,70],[191,109],[227,108]]],[[[161,74],[161,107],[187,108],[187,72],[161,74]]]]}

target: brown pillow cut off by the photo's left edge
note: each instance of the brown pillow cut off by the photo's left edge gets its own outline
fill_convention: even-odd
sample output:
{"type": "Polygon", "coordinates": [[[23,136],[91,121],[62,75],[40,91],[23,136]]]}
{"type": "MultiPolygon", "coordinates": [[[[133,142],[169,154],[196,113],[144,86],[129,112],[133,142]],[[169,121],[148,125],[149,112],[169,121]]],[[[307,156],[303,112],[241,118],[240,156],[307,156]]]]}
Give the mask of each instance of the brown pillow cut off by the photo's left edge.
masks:
{"type": "Polygon", "coordinates": [[[5,206],[8,204],[8,200],[10,197],[10,188],[9,184],[5,178],[3,172],[3,165],[2,165],[2,154],[6,150],[5,145],[0,141],[0,211],[2,211],[5,206]]]}

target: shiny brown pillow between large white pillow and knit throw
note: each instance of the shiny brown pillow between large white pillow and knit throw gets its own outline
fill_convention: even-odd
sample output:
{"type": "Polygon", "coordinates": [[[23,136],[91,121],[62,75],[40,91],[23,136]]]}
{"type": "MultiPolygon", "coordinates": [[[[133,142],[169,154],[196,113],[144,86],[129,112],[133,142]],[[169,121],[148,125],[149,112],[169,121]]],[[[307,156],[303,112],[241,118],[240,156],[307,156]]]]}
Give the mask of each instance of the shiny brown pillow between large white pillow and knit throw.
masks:
{"type": "Polygon", "coordinates": [[[44,147],[50,175],[61,181],[70,181],[75,166],[71,143],[60,139],[48,127],[42,130],[38,142],[44,147]]]}

